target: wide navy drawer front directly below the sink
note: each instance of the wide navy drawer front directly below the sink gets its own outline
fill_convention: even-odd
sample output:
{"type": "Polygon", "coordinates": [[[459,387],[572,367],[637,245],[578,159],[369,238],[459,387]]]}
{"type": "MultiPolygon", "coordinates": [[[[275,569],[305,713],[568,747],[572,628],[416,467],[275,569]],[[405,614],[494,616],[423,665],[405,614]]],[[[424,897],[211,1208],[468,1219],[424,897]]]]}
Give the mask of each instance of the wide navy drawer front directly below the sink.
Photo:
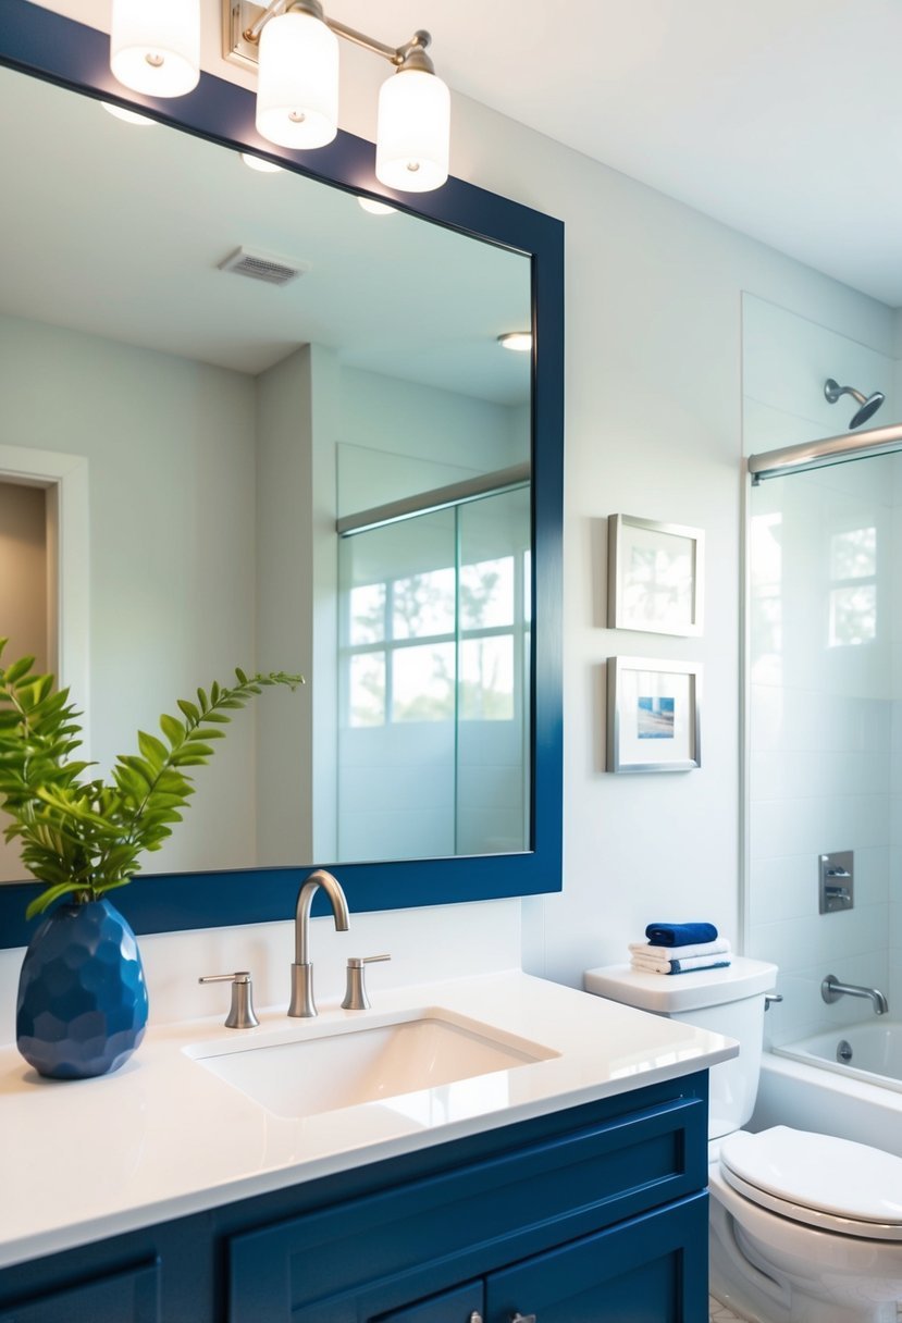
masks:
{"type": "Polygon", "coordinates": [[[234,1236],[229,1323],[356,1323],[377,1279],[410,1274],[417,1299],[667,1204],[705,1183],[706,1125],[675,1098],[234,1236]]]}

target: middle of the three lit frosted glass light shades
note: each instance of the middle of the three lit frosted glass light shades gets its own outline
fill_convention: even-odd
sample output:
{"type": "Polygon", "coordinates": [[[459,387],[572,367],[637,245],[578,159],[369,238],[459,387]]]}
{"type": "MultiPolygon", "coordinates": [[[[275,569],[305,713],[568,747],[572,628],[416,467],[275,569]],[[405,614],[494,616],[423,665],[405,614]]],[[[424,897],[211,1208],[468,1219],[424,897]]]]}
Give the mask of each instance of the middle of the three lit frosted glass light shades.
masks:
{"type": "Polygon", "coordinates": [[[339,131],[339,38],[307,13],[261,32],[257,131],[280,147],[325,147],[339,131]]]}

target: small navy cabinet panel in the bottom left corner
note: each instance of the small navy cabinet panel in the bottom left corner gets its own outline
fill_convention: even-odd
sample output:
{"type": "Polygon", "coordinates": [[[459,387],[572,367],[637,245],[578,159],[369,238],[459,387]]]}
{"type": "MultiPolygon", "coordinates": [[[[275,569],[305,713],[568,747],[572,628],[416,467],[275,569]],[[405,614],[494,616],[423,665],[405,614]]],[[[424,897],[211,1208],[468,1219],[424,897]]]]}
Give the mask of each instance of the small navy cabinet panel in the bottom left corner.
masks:
{"type": "Polygon", "coordinates": [[[160,1323],[160,1265],[36,1297],[0,1310],[0,1323],[160,1323]]]}

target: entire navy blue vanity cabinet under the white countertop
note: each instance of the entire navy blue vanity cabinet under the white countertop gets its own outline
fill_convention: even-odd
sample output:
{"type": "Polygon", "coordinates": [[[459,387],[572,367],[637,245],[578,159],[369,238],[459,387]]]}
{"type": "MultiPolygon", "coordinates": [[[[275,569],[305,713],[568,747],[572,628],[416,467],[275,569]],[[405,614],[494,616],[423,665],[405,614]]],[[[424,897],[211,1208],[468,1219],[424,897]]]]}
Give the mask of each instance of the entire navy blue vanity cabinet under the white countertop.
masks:
{"type": "Polygon", "coordinates": [[[708,1076],[0,1271],[0,1323],[706,1323],[708,1076]]]}

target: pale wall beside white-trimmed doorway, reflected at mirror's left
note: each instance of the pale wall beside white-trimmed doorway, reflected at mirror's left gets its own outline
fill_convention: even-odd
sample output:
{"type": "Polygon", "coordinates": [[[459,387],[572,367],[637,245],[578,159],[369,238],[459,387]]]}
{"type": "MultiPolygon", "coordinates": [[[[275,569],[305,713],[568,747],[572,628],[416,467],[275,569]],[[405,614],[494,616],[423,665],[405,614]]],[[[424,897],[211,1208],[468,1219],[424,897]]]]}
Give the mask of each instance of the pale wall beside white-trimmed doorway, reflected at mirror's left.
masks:
{"type": "MultiPolygon", "coordinates": [[[[0,398],[5,445],[87,459],[86,725],[91,757],[107,769],[136,751],[139,728],[153,732],[161,712],[177,712],[177,697],[227,681],[224,658],[255,665],[254,381],[3,316],[0,398]]],[[[85,710],[83,693],[73,701],[85,710]]],[[[247,857],[253,803],[235,770],[253,763],[253,720],[238,720],[198,769],[204,792],[153,872],[209,867],[209,839],[222,860],[247,857]]]]}

